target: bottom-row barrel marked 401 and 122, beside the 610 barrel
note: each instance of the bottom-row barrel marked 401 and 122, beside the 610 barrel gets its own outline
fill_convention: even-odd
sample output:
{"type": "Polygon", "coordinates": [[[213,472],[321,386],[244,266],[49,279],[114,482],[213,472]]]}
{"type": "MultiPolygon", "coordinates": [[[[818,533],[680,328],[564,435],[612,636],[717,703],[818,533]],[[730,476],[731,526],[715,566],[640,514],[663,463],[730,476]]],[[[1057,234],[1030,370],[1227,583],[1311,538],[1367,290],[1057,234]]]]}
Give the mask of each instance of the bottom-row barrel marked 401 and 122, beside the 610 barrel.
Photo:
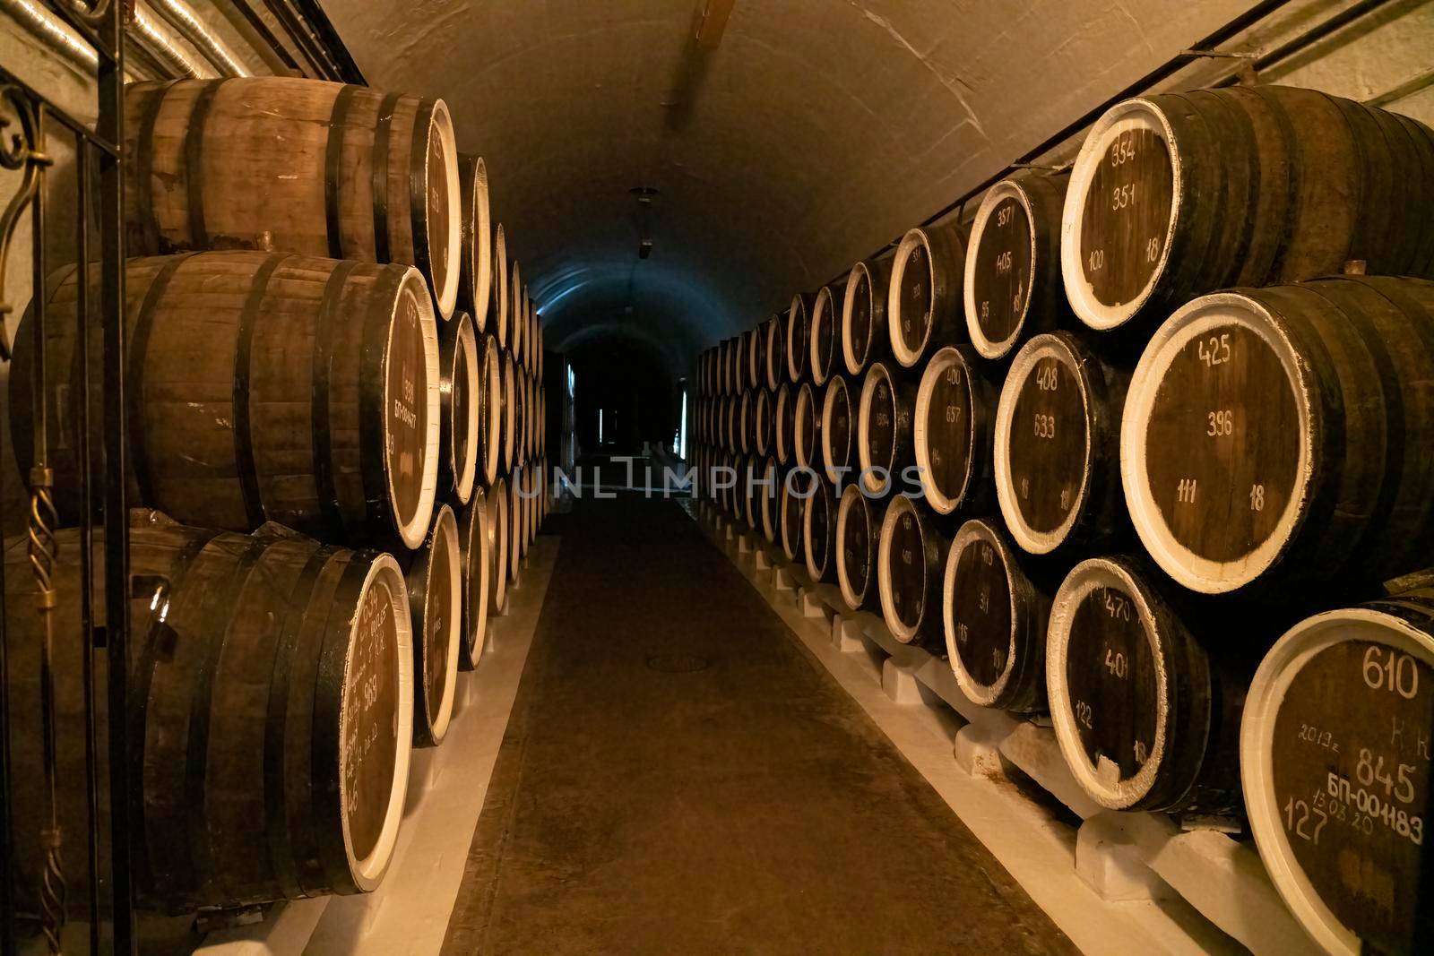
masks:
{"type": "Polygon", "coordinates": [[[1076,565],[1053,601],[1045,692],[1076,783],[1111,810],[1239,807],[1243,689],[1129,558],[1076,565]]]}

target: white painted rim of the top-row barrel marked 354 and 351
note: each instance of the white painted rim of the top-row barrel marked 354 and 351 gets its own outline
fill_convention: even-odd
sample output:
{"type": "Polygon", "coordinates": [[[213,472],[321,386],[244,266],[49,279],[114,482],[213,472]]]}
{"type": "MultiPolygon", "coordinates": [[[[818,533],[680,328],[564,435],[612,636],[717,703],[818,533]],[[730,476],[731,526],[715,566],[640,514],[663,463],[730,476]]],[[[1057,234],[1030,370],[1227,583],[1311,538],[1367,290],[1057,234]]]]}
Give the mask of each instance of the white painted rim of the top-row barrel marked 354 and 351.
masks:
{"type": "Polygon", "coordinates": [[[1107,331],[1123,325],[1140,311],[1150,300],[1160,279],[1170,264],[1170,244],[1174,238],[1180,221],[1180,188],[1184,179],[1180,153],[1174,140],[1174,130],[1170,120],[1150,100],[1134,97],[1121,100],[1111,106],[1091,126],[1090,135],[1081,143],[1076,165],[1071,166],[1071,179],[1065,191],[1065,206],[1061,209],[1061,279],[1065,285],[1065,298],[1070,301],[1076,315],[1091,328],[1107,331]],[[1096,169],[1106,158],[1110,143],[1131,129],[1147,129],[1164,138],[1170,153],[1172,172],[1172,201],[1170,222],[1166,225],[1166,241],[1160,251],[1160,261],[1156,262],[1154,272],[1146,287],[1129,302],[1123,305],[1106,305],[1096,298],[1090,284],[1086,282],[1086,271],[1081,267],[1080,235],[1086,219],[1086,191],[1096,178],[1096,169]]]}

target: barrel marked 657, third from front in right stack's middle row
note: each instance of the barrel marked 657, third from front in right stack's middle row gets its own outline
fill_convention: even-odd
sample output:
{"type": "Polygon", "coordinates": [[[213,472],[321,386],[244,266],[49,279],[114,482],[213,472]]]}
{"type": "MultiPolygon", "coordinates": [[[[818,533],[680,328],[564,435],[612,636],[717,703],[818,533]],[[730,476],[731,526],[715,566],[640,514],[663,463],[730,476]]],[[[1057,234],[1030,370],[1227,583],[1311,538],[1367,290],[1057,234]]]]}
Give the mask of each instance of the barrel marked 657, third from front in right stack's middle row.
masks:
{"type": "Polygon", "coordinates": [[[979,515],[994,503],[995,406],[997,388],[969,345],[946,345],[926,363],[916,388],[912,449],[926,505],[938,515],[958,507],[979,515]]]}

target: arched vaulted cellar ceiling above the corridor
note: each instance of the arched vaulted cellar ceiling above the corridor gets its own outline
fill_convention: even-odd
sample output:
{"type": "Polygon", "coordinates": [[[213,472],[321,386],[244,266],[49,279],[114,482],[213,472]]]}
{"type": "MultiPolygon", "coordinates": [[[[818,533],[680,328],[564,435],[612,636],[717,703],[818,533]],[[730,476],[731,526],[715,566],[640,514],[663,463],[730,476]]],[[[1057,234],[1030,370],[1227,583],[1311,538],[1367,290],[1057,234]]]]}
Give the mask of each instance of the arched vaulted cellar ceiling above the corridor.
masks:
{"type": "Polygon", "coordinates": [[[706,0],[324,6],[370,83],[442,96],[486,158],[549,344],[684,368],[1250,3],[736,0],[710,52],[706,0]]]}

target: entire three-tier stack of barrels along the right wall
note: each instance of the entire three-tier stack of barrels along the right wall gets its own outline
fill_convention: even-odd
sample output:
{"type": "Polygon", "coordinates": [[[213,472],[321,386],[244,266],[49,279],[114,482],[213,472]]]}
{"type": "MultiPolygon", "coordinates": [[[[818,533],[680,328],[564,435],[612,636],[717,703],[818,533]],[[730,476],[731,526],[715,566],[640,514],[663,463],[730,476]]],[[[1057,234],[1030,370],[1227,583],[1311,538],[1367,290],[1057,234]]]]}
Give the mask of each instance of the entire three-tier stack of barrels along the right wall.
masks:
{"type": "Polygon", "coordinates": [[[1248,826],[1321,946],[1428,952],[1431,222],[1412,119],[1136,97],[793,297],[764,376],[704,353],[700,403],[769,391],[787,559],[1050,714],[1096,803],[1248,826]]]}

